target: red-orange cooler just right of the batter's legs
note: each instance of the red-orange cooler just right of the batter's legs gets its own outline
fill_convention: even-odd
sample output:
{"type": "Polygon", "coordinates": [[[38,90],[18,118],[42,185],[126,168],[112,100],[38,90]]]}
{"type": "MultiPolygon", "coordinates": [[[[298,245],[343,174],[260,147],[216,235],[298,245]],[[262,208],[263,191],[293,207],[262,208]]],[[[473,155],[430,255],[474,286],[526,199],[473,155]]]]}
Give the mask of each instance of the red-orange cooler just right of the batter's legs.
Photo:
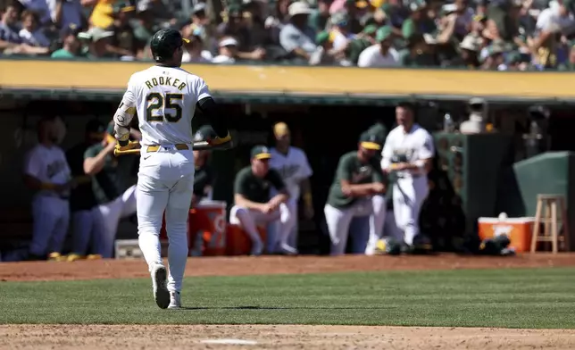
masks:
{"type": "MultiPolygon", "coordinates": [[[[226,202],[201,201],[190,209],[187,221],[187,246],[190,256],[226,254],[226,202]]],[[[167,239],[165,214],[160,239],[167,239]]]]}

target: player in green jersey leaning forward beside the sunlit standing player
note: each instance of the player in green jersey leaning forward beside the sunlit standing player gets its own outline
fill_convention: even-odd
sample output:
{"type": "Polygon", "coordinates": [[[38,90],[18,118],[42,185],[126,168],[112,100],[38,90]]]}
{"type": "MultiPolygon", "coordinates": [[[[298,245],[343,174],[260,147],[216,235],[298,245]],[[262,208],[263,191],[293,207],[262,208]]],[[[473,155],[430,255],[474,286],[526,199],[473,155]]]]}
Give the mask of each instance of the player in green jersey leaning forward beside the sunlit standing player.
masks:
{"type": "Polygon", "coordinates": [[[371,197],[384,194],[387,187],[387,177],[376,157],[381,143],[377,136],[363,133],[357,151],[346,153],[339,159],[324,208],[331,255],[346,253],[350,230],[353,232],[351,253],[365,253],[373,210],[371,197]]]}

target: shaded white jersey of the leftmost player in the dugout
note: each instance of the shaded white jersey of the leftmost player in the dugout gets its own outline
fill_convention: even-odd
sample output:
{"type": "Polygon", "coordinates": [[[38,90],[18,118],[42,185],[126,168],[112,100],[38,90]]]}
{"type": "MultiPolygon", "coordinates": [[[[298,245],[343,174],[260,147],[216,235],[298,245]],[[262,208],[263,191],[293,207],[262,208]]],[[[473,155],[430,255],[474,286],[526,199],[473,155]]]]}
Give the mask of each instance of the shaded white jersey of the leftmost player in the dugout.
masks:
{"type": "MultiPolygon", "coordinates": [[[[71,179],[66,155],[58,146],[46,147],[38,144],[26,154],[24,173],[41,182],[63,185],[71,179]]],[[[40,195],[60,196],[54,191],[42,190],[40,195]]]]}

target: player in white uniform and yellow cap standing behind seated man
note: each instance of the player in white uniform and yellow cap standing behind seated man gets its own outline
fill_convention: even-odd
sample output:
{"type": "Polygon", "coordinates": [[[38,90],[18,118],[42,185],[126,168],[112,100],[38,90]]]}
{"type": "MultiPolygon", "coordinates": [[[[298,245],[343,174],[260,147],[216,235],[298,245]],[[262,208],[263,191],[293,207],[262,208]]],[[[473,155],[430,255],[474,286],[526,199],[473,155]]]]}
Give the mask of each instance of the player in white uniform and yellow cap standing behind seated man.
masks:
{"type": "MultiPolygon", "coordinates": [[[[279,122],[273,127],[273,135],[276,137],[276,146],[270,148],[270,169],[275,169],[281,175],[289,193],[287,210],[289,220],[282,220],[279,225],[271,225],[279,230],[274,239],[269,239],[267,249],[269,252],[297,254],[297,202],[303,193],[305,216],[313,217],[312,189],[310,177],[313,174],[312,167],[307,156],[301,148],[290,145],[290,132],[285,122],[279,122]]],[[[276,196],[277,190],[271,188],[271,196],[276,196]]],[[[268,230],[268,237],[274,234],[268,230]]]]}

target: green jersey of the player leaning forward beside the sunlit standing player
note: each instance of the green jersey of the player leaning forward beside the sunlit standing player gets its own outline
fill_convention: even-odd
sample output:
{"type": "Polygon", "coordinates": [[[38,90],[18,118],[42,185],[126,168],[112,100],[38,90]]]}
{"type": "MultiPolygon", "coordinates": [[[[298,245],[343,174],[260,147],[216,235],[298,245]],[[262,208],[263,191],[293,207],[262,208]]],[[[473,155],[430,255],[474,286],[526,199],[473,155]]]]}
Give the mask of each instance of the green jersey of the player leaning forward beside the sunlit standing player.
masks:
{"type": "Polygon", "coordinates": [[[341,191],[341,180],[347,180],[352,185],[384,183],[385,176],[377,158],[371,158],[363,163],[357,157],[357,151],[346,153],[339,158],[336,177],[329,188],[328,204],[335,208],[346,208],[354,204],[357,197],[345,196],[341,191]]]}

